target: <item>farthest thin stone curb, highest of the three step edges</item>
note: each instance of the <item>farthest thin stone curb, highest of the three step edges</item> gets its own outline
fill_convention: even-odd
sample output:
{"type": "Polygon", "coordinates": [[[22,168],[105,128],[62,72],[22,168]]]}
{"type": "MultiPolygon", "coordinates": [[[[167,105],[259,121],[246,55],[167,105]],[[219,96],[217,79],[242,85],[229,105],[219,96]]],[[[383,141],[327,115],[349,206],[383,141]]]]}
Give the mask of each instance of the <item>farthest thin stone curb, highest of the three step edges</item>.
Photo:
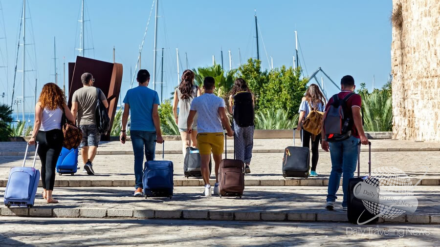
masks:
{"type": "MultiPolygon", "coordinates": [[[[232,153],[233,149],[227,150],[232,153]]],[[[285,149],[254,149],[252,153],[284,153],[285,149]]],[[[429,152],[429,151],[440,151],[440,148],[372,148],[372,152],[429,152]]],[[[324,150],[319,150],[320,153],[325,152],[324,150]]],[[[361,149],[361,152],[368,152],[368,149],[361,149]]],[[[162,154],[162,150],[156,150],[156,154],[162,154]]],[[[134,154],[133,151],[97,151],[97,155],[127,155],[134,154]]],[[[181,150],[165,150],[165,154],[182,154],[181,150]]],[[[35,152],[28,152],[28,156],[35,155],[35,152]]],[[[81,155],[81,150],[79,151],[81,155]]],[[[24,152],[0,152],[0,156],[24,156],[24,152]]]]}

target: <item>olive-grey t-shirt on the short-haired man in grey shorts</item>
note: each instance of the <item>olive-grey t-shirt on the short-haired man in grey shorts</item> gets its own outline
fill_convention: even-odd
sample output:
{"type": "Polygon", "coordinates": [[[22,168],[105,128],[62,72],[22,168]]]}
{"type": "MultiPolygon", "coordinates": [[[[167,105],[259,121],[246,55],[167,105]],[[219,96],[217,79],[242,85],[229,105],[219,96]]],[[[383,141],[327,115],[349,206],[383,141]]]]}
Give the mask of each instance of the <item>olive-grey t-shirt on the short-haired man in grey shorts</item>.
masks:
{"type": "MultiPolygon", "coordinates": [[[[101,101],[107,100],[101,89],[99,91],[101,92],[101,101]]],[[[78,125],[96,124],[95,109],[97,99],[96,87],[94,86],[85,86],[73,93],[72,102],[78,102],[78,114],[76,117],[78,125]]]]}

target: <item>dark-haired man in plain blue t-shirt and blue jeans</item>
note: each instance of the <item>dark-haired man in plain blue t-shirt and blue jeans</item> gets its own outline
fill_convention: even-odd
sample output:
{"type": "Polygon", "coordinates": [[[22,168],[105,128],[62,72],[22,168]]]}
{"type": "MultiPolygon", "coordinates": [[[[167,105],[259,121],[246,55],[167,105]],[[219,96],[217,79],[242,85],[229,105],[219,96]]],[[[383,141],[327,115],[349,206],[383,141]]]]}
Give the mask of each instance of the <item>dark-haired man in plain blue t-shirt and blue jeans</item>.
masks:
{"type": "Polygon", "coordinates": [[[120,140],[122,144],[127,139],[126,126],[131,111],[130,134],[132,138],[134,152],[134,178],[135,178],[135,197],[143,196],[142,185],[142,164],[145,158],[147,161],[154,160],[155,143],[163,143],[162,132],[160,131],[159,96],[157,92],[148,88],[150,73],[146,69],[141,69],[137,73],[139,86],[127,91],[124,98],[124,113],[122,114],[122,129],[120,140]]]}

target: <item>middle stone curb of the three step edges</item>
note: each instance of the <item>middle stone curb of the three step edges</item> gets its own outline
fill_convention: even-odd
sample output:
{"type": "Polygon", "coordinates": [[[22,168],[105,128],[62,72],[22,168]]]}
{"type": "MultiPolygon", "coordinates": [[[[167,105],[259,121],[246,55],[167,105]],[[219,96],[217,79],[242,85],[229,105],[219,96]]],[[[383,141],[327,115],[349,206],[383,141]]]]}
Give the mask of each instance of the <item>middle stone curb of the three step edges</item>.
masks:
{"type": "MultiPolygon", "coordinates": [[[[66,175],[70,176],[70,175],[66,175]]],[[[281,175],[280,175],[281,177],[281,175]]],[[[412,178],[411,182],[415,185],[419,179],[412,178]]],[[[6,187],[7,179],[0,180],[0,187],[6,187]]],[[[214,186],[214,181],[211,185],[214,186]]],[[[342,185],[342,179],[340,184],[342,185]]],[[[202,186],[202,179],[175,179],[174,186],[202,186]]],[[[245,186],[327,186],[328,178],[308,178],[308,179],[247,179],[244,180],[245,186]]],[[[418,185],[435,186],[440,185],[440,179],[422,179],[418,185]]],[[[40,181],[39,186],[42,186],[40,181]]],[[[134,187],[134,180],[55,180],[55,187],[134,187]]]]}

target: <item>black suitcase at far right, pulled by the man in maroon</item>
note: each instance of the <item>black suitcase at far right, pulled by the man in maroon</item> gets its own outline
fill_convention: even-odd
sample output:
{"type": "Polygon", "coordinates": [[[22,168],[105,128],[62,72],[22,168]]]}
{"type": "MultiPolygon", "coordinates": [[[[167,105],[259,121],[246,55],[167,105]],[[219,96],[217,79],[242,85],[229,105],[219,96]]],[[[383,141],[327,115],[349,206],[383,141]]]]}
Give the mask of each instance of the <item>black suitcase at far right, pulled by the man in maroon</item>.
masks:
{"type": "MultiPolygon", "coordinates": [[[[357,224],[357,220],[359,219],[359,223],[363,223],[366,221],[371,220],[375,217],[374,214],[370,213],[367,208],[365,208],[364,204],[362,203],[362,200],[356,198],[353,193],[354,186],[357,185],[357,183],[364,181],[364,178],[360,177],[360,145],[358,144],[358,156],[357,156],[357,178],[351,178],[349,180],[348,185],[348,195],[347,195],[347,217],[350,223],[357,224]],[[362,214],[362,215],[361,215],[362,214]],[[359,218],[359,216],[361,217],[359,218]]],[[[368,142],[368,174],[371,173],[371,143],[368,142]]],[[[365,177],[366,178],[366,177],[365,177]]],[[[372,178],[370,178],[372,179],[372,178]]],[[[367,224],[374,224],[377,223],[379,218],[375,218],[374,220],[370,221],[367,224]]]]}

